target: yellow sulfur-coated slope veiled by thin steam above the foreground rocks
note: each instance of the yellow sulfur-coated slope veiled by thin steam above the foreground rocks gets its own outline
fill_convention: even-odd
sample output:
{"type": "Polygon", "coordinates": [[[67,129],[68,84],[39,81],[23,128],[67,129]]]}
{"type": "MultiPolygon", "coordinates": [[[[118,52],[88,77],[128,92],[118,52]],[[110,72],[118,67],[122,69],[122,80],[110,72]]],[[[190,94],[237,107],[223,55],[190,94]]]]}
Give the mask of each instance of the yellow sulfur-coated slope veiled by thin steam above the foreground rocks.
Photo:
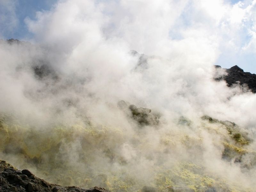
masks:
{"type": "MultiPolygon", "coordinates": [[[[189,122],[186,128],[195,129],[189,122]]],[[[199,165],[203,158],[200,150],[205,142],[201,132],[207,131],[218,138],[213,144],[223,148],[222,158],[229,161],[254,154],[243,148],[242,135],[236,134],[240,139],[236,141],[216,120],[209,123],[203,120],[202,125],[196,127],[198,134],[188,135],[182,130],[186,128],[182,124],[177,125],[177,130],[160,130],[154,140],[155,137],[145,135],[143,129],[129,135],[118,127],[91,122],[55,124],[39,129],[2,119],[0,150],[3,159],[9,162],[19,159],[20,167],[30,168],[37,176],[64,186],[100,186],[116,192],[140,192],[143,186],[160,192],[175,188],[192,192],[211,188],[252,191],[230,185],[199,165]],[[182,157],[182,150],[190,157],[182,157]],[[199,164],[192,162],[194,160],[199,164]]]]}

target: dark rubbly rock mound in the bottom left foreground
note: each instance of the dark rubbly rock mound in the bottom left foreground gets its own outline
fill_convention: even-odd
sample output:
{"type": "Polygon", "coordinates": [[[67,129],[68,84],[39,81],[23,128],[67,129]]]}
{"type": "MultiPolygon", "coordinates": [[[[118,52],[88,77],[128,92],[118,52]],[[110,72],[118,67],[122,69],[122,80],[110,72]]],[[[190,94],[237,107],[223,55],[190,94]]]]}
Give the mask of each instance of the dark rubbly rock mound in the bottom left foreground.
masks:
{"type": "Polygon", "coordinates": [[[0,191],[2,192],[110,192],[104,188],[78,188],[62,187],[60,185],[50,184],[24,169],[22,171],[17,170],[11,164],[0,160],[0,191]]]}

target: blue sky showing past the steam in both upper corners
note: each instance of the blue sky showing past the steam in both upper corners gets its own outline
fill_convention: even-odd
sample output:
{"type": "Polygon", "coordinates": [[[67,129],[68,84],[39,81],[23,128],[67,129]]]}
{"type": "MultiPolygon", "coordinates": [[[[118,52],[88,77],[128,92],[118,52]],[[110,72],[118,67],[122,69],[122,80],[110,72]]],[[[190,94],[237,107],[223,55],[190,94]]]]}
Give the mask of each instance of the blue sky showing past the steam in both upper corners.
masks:
{"type": "MultiPolygon", "coordinates": [[[[30,20],[36,20],[36,12],[47,12],[51,11],[52,6],[57,2],[57,0],[13,0],[10,1],[11,3],[6,3],[5,0],[0,0],[0,12],[2,12],[2,15],[6,16],[4,19],[0,22],[0,35],[4,39],[21,39],[21,40],[29,40],[33,39],[35,36],[35,33],[29,32],[28,26],[26,22],[24,21],[26,18],[29,18],[30,20]],[[8,9],[6,9],[8,7],[8,9]],[[9,16],[10,15],[10,16],[9,16]],[[13,22],[10,22],[10,20],[14,20],[13,22]]],[[[236,4],[239,4],[238,0],[231,0],[231,1],[224,1],[227,4],[230,4],[232,6],[235,6],[236,4]]],[[[245,7],[249,5],[252,1],[244,1],[240,3],[241,4],[239,8],[242,9],[242,7],[245,7]]],[[[191,8],[192,10],[193,8],[191,8]]],[[[190,8],[188,9],[190,10],[190,8]]],[[[218,9],[216,9],[218,11],[218,9]]],[[[244,8],[245,10],[245,8],[244,8]]],[[[255,11],[255,10],[254,10],[255,11]]],[[[191,25],[194,25],[193,22],[191,22],[190,17],[191,14],[194,14],[194,11],[188,13],[183,12],[182,13],[182,24],[183,26],[180,27],[180,24],[176,24],[178,26],[176,29],[173,29],[169,32],[169,34],[172,36],[172,39],[179,38],[182,39],[184,36],[180,35],[182,34],[181,29],[185,30],[185,28],[190,27],[191,25]],[[185,15],[185,16],[184,16],[185,15]]],[[[224,16],[223,16],[224,17],[224,16]]],[[[220,65],[224,68],[230,68],[234,65],[238,65],[241,68],[244,69],[244,71],[248,71],[251,73],[256,73],[256,48],[254,46],[253,34],[249,34],[248,31],[254,32],[254,28],[252,27],[255,25],[251,22],[253,18],[248,19],[247,21],[243,20],[243,23],[241,24],[242,27],[239,29],[236,28],[237,33],[234,34],[233,39],[227,39],[228,41],[233,41],[234,43],[234,49],[232,46],[227,46],[227,44],[220,44],[220,54],[218,59],[216,60],[216,65],[220,65]],[[251,41],[251,43],[250,43],[251,41]],[[250,46],[249,46],[250,45],[250,46]],[[236,48],[235,48],[236,47],[236,48]],[[245,49],[246,48],[246,49],[245,49]],[[236,49],[236,50],[235,50],[236,49]],[[255,49],[255,50],[254,50],[255,49]]],[[[205,22],[205,21],[200,21],[205,22]]],[[[219,20],[218,21],[220,25],[225,23],[226,21],[219,20]]],[[[205,22],[207,23],[207,21],[205,22]]],[[[207,27],[207,24],[206,24],[207,27]]],[[[233,28],[230,28],[230,30],[233,30],[233,28]]],[[[232,33],[232,31],[231,31],[232,33]]],[[[225,34],[221,35],[221,38],[225,38],[225,34]]],[[[229,34],[228,34],[229,38],[229,34]]]]}

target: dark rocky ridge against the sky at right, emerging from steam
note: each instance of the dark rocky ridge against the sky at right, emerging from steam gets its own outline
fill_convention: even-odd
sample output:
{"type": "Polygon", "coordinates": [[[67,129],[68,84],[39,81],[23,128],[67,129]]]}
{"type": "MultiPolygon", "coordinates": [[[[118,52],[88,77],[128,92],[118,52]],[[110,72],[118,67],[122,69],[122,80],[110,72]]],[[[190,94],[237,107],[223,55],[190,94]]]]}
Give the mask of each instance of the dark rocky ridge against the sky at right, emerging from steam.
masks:
{"type": "MultiPolygon", "coordinates": [[[[215,67],[220,68],[219,65],[215,65],[215,67]]],[[[224,79],[227,82],[227,85],[229,87],[237,83],[240,85],[246,84],[253,93],[256,93],[256,75],[255,74],[244,72],[244,70],[238,67],[237,65],[231,67],[230,69],[226,69],[226,72],[228,73],[227,76],[224,76],[222,78],[217,78],[216,80],[224,79]]]]}

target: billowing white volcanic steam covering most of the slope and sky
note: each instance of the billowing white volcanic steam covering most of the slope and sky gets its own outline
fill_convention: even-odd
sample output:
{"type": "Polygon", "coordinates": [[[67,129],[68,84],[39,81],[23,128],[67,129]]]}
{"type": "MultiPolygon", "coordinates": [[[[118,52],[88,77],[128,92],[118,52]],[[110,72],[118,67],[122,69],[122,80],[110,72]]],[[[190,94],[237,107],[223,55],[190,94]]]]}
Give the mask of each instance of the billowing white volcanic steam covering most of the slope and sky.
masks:
{"type": "Polygon", "coordinates": [[[198,170],[191,183],[206,174],[223,179],[212,186],[255,188],[256,95],[214,81],[225,72],[213,67],[222,48],[230,49],[218,25],[237,28],[254,3],[234,18],[239,4],[211,1],[209,9],[205,2],[66,0],[27,18],[30,43],[0,43],[2,158],[63,185],[135,191],[161,183],[167,190],[168,179],[189,184],[170,178],[186,168],[198,170]],[[186,10],[194,22],[188,27],[186,10]],[[140,126],[120,100],[152,109],[161,123],[140,126]],[[204,115],[236,122],[249,133],[244,150],[252,153],[240,163],[223,159],[223,142],[236,143],[204,115]]]}

